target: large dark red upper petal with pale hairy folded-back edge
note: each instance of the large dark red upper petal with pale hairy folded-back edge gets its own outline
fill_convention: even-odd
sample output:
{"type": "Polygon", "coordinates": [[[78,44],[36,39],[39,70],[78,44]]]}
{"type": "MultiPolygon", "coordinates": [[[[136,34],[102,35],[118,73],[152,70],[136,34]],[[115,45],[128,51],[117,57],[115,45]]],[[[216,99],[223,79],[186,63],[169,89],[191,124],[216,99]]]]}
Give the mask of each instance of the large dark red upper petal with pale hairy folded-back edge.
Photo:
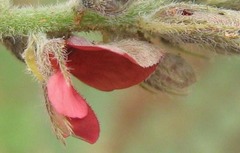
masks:
{"type": "Polygon", "coordinates": [[[109,45],[92,45],[71,37],[67,66],[82,82],[110,91],[139,84],[156,69],[162,53],[141,41],[127,40],[109,45]]]}

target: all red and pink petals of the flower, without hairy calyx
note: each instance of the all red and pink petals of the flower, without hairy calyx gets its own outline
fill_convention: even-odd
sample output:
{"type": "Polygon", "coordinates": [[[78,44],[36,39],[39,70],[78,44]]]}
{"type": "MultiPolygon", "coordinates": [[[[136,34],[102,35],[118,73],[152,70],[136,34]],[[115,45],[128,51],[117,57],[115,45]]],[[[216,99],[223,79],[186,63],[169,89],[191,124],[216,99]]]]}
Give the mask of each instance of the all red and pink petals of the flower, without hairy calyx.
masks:
{"type": "MultiPolygon", "coordinates": [[[[141,41],[121,41],[108,45],[93,45],[71,37],[66,40],[66,65],[70,73],[84,83],[100,90],[127,88],[144,81],[156,69],[162,57],[159,49],[141,41]]],[[[57,58],[56,58],[57,59],[57,58]]],[[[56,60],[55,59],[55,60],[56,60]]],[[[59,63],[54,61],[52,63],[59,63]]],[[[71,130],[60,125],[64,137],[73,135],[89,143],[99,137],[98,120],[85,99],[72,87],[57,64],[47,82],[48,98],[55,113],[62,115],[71,130]]]]}

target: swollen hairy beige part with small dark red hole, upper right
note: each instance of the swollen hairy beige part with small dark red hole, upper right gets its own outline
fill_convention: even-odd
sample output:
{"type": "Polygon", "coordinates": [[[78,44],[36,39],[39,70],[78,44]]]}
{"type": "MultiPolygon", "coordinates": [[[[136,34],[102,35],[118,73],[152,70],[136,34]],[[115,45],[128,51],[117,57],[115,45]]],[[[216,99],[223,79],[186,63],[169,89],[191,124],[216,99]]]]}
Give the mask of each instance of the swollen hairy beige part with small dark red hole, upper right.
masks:
{"type": "Polygon", "coordinates": [[[176,44],[194,43],[218,53],[240,53],[240,14],[194,4],[170,4],[146,16],[140,27],[176,44]]]}

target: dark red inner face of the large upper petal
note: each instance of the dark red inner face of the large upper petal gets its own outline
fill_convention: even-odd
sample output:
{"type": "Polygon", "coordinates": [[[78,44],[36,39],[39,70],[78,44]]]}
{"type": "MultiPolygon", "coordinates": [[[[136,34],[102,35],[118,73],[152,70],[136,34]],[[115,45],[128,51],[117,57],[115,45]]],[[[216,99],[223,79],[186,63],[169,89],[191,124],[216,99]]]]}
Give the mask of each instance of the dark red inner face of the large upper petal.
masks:
{"type": "Polygon", "coordinates": [[[84,83],[104,91],[127,88],[146,79],[156,64],[142,67],[126,52],[117,47],[93,46],[82,39],[67,40],[70,51],[67,66],[84,83]]]}

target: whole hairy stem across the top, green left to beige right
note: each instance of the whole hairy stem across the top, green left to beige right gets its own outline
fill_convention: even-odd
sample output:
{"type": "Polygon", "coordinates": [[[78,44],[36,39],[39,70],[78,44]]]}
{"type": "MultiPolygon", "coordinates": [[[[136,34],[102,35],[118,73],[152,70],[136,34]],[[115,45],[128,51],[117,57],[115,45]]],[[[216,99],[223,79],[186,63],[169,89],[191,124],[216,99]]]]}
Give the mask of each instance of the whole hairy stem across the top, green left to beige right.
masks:
{"type": "Polygon", "coordinates": [[[238,11],[164,0],[135,0],[120,14],[110,16],[86,9],[78,0],[37,8],[4,8],[0,15],[0,36],[4,37],[99,30],[116,39],[136,38],[141,32],[144,39],[157,37],[175,44],[200,44],[218,53],[240,53],[238,11]]]}

